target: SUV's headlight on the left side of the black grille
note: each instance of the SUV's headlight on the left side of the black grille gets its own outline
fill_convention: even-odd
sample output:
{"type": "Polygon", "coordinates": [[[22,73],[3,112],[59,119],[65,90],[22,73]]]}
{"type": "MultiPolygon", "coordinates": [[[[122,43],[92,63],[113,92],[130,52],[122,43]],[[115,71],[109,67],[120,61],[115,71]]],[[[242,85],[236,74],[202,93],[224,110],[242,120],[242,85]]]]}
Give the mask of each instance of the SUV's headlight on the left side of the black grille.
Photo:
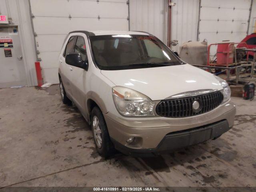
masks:
{"type": "Polygon", "coordinates": [[[147,96],[132,89],[116,86],[112,88],[118,112],[125,116],[154,116],[154,103],[147,96]]]}

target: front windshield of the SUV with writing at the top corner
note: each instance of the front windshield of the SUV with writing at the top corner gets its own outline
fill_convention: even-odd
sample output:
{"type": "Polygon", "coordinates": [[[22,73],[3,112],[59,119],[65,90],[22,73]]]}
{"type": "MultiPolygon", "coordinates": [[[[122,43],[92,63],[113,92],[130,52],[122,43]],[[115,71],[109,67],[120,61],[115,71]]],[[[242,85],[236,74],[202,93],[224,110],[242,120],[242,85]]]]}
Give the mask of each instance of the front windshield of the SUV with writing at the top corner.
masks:
{"type": "Polygon", "coordinates": [[[94,62],[101,70],[125,70],[183,64],[154,36],[91,36],[90,42],[94,62]]]}

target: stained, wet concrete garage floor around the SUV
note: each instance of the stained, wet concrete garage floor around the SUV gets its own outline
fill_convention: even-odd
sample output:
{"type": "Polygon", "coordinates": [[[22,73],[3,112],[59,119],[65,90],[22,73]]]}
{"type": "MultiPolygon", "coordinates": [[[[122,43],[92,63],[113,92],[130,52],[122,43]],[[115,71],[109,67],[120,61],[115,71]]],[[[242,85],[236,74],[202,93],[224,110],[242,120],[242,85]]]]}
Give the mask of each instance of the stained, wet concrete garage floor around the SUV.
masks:
{"type": "Polygon", "coordinates": [[[256,186],[256,100],[232,100],[235,126],[217,140],[156,158],[104,160],[57,85],[0,89],[0,187],[256,186]]]}

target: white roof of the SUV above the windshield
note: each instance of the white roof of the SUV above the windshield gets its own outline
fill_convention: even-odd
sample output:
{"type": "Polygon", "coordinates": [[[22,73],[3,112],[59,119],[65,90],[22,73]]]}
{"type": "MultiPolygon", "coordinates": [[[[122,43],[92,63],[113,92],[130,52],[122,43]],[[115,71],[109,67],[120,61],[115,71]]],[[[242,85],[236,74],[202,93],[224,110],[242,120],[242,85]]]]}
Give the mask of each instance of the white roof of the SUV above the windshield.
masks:
{"type": "Polygon", "coordinates": [[[71,33],[84,33],[87,36],[99,36],[99,35],[151,35],[147,32],[142,31],[105,31],[105,30],[96,30],[96,31],[72,31],[71,33]]]}

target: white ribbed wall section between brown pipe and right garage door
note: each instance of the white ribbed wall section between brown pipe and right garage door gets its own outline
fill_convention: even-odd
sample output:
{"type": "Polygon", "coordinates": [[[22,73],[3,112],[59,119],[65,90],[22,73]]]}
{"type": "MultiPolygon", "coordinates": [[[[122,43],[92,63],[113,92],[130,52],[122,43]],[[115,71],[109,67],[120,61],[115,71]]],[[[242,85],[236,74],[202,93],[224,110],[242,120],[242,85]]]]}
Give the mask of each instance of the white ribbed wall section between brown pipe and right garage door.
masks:
{"type": "Polygon", "coordinates": [[[178,40],[172,50],[179,52],[184,42],[196,41],[199,18],[199,0],[173,0],[171,39],[178,40]]]}

